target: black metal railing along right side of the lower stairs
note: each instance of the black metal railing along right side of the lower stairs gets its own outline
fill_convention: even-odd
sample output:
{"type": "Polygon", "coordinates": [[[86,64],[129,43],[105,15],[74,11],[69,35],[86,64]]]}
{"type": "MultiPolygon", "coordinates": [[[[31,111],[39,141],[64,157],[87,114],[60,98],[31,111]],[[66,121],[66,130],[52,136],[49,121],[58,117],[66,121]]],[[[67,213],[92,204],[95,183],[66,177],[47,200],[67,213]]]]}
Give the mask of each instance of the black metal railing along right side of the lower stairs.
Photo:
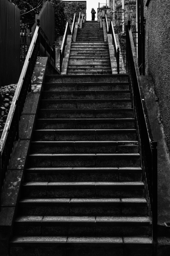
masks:
{"type": "Polygon", "coordinates": [[[141,167],[145,171],[152,211],[152,242],[157,243],[157,142],[153,140],[149,116],[133,43],[131,23],[128,21],[126,40],[126,70],[133,91],[133,105],[137,116],[141,143],[141,167]]]}

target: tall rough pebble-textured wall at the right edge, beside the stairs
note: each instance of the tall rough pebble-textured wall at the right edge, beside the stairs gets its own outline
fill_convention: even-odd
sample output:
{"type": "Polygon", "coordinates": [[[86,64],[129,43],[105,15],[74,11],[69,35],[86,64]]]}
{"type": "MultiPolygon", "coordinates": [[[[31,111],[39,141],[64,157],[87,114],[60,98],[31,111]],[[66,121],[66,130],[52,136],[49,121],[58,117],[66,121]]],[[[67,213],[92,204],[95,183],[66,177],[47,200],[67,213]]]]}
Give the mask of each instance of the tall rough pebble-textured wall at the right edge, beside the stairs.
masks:
{"type": "Polygon", "coordinates": [[[144,16],[146,74],[150,74],[154,80],[170,150],[170,0],[150,0],[149,6],[145,7],[144,16]]]}

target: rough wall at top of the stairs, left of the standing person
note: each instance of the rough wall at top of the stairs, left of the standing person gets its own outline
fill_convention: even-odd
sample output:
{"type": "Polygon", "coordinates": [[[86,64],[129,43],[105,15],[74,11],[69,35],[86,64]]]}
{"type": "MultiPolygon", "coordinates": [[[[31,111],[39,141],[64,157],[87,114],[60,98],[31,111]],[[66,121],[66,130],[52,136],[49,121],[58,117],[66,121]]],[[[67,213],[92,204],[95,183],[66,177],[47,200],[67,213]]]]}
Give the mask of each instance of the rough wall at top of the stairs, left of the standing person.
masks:
{"type": "Polygon", "coordinates": [[[64,1],[65,12],[68,16],[68,20],[74,18],[74,13],[76,12],[76,21],[78,21],[80,11],[86,15],[86,1],[64,1]]]}

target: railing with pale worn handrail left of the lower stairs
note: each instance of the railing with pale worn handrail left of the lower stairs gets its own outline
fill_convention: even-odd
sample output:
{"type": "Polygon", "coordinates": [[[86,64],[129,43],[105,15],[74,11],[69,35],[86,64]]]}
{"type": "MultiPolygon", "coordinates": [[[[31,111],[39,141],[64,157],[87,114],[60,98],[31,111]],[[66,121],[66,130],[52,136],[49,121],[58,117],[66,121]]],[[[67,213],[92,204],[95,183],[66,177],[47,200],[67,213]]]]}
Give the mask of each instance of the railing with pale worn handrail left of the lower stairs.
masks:
{"type": "Polygon", "coordinates": [[[0,140],[0,192],[4,184],[14,142],[19,138],[19,122],[27,92],[31,91],[31,76],[38,56],[47,56],[55,63],[55,48],[37,23],[0,140]]]}

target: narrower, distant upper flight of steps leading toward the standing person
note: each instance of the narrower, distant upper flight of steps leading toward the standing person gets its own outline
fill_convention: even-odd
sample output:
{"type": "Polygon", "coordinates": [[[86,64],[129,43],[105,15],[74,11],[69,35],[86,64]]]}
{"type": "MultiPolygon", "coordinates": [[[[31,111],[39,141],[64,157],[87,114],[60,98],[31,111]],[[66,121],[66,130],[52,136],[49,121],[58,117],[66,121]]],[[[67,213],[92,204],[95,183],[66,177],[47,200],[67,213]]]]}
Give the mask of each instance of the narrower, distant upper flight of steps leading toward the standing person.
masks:
{"type": "Polygon", "coordinates": [[[108,42],[100,23],[88,21],[72,42],[67,74],[112,74],[108,42]]]}

